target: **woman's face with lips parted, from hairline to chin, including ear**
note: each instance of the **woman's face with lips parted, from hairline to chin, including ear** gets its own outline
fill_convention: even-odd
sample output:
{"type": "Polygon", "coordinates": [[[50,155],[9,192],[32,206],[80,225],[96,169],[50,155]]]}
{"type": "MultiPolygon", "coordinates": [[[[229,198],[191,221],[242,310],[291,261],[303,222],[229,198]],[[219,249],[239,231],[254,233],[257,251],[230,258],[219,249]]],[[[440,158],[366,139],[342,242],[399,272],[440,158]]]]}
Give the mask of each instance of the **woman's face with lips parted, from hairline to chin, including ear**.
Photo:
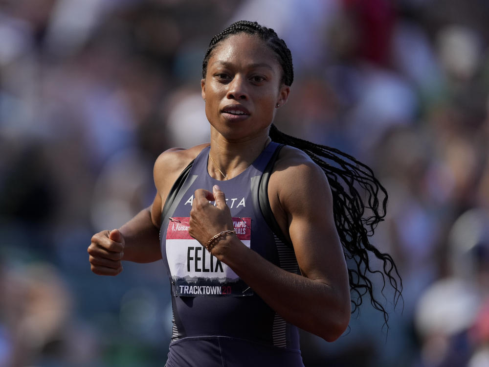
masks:
{"type": "Polygon", "coordinates": [[[283,105],[290,92],[282,73],[273,51],[258,37],[239,33],[223,40],[201,81],[210,124],[229,140],[267,134],[276,105],[283,105]]]}

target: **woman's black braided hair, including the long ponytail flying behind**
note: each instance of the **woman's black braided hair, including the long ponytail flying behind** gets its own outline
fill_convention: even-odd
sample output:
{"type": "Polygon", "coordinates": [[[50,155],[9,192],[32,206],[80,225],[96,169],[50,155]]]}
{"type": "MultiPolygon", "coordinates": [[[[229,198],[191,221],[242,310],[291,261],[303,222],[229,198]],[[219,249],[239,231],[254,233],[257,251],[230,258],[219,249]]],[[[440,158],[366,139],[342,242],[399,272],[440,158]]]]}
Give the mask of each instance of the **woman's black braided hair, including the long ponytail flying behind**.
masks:
{"type": "MultiPolygon", "coordinates": [[[[203,78],[206,76],[207,63],[214,48],[228,36],[238,33],[260,37],[274,51],[283,69],[282,82],[287,86],[292,84],[292,55],[285,42],[273,29],[249,21],[233,23],[212,38],[202,62],[203,78]]],[[[352,297],[352,312],[358,309],[362,304],[362,297],[368,293],[372,306],[383,313],[387,324],[388,314],[375,297],[373,283],[369,277],[374,274],[381,275],[382,292],[387,278],[394,288],[394,301],[397,304],[401,297],[402,280],[396,264],[391,255],[380,252],[369,240],[378,223],[384,220],[387,191],[369,166],[338,149],[284,134],[273,124],[270,126],[269,137],[272,141],[301,149],[323,169],[333,193],[334,222],[349,264],[350,291],[356,295],[352,297]],[[383,263],[383,272],[372,267],[370,254],[374,254],[383,263]]]]}

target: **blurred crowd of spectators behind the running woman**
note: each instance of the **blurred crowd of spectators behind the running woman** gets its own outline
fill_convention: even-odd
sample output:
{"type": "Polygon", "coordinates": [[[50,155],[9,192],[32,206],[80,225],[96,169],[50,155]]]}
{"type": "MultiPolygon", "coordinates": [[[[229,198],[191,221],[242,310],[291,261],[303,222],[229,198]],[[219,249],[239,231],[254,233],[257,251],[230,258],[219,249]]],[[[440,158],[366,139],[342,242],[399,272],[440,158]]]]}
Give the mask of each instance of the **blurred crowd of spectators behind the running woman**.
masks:
{"type": "Polygon", "coordinates": [[[487,0],[1,0],[0,367],[164,364],[164,270],[97,276],[87,247],[152,202],[159,153],[208,141],[201,61],[240,19],[292,51],[278,128],[389,192],[403,301],[374,279],[389,328],[365,298],[338,341],[302,335],[306,366],[489,366],[487,0]]]}

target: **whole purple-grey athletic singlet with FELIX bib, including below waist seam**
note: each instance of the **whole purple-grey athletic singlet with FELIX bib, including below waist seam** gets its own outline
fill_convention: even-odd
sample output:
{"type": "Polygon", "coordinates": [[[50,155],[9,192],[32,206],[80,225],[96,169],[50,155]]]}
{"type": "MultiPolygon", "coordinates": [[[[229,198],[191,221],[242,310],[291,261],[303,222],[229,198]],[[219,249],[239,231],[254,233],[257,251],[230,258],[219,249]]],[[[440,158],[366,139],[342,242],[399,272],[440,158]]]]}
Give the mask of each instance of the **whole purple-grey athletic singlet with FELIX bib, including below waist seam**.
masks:
{"type": "Polygon", "coordinates": [[[297,273],[293,249],[270,229],[259,205],[260,181],[278,147],[269,143],[244,172],[227,181],[209,176],[206,147],[172,188],[160,229],[174,316],[168,367],[303,366],[297,327],[188,234],[195,190],[212,191],[219,184],[238,238],[271,263],[297,273]]]}

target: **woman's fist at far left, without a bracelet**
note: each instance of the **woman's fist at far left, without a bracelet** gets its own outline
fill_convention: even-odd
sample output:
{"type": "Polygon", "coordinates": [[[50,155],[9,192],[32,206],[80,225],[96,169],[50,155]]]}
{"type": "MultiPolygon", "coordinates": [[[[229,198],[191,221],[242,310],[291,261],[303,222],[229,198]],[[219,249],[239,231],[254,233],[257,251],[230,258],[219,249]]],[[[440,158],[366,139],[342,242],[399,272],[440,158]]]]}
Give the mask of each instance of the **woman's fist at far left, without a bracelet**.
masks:
{"type": "Polygon", "coordinates": [[[91,271],[97,275],[118,275],[122,272],[124,243],[124,237],[118,229],[94,234],[87,250],[91,271]]]}

